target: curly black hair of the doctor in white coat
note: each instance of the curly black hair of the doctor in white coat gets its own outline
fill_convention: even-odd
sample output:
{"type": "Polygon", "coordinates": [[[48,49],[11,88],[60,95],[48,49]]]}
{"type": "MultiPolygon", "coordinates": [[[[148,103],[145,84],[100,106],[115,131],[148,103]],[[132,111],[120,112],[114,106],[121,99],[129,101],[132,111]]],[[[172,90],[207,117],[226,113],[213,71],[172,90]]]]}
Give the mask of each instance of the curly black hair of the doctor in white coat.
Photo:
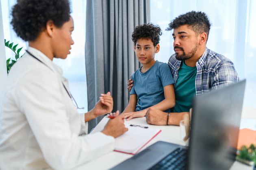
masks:
{"type": "Polygon", "coordinates": [[[69,21],[68,0],[17,0],[13,6],[11,25],[17,36],[25,41],[33,41],[52,20],[57,28],[69,21]]]}

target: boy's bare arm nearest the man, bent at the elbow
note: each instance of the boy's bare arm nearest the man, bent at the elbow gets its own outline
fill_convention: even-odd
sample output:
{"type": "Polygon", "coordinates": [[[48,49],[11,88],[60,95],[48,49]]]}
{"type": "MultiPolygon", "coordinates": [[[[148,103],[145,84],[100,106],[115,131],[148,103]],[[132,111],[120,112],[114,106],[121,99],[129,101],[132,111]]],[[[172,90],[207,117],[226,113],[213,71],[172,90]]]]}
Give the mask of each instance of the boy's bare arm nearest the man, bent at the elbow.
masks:
{"type": "Polygon", "coordinates": [[[151,106],[151,108],[164,111],[175,106],[174,86],[173,85],[165,86],[164,94],[165,94],[165,99],[162,102],[159,102],[154,106],[151,106]]]}

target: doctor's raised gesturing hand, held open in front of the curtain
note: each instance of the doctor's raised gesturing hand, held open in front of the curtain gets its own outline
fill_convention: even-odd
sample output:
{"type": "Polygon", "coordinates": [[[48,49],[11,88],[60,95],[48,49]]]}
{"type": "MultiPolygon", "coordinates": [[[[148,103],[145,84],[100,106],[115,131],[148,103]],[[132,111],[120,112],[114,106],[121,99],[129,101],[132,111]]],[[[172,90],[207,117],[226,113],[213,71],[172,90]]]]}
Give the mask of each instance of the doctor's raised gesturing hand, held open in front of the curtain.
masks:
{"type": "Polygon", "coordinates": [[[113,110],[113,98],[108,91],[107,94],[101,94],[100,100],[95,104],[93,113],[95,117],[105,115],[113,110]]]}

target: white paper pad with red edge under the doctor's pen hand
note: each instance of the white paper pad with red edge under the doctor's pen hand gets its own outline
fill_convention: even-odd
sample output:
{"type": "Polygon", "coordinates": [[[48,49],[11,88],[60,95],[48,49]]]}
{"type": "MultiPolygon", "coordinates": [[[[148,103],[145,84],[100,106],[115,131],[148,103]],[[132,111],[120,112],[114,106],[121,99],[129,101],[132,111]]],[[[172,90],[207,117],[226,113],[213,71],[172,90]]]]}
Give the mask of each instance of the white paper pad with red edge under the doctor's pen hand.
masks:
{"type": "Polygon", "coordinates": [[[129,129],[126,133],[115,138],[114,151],[128,153],[135,155],[139,152],[150,140],[152,140],[157,134],[161,132],[157,128],[143,128],[133,127],[126,125],[129,129]]]}

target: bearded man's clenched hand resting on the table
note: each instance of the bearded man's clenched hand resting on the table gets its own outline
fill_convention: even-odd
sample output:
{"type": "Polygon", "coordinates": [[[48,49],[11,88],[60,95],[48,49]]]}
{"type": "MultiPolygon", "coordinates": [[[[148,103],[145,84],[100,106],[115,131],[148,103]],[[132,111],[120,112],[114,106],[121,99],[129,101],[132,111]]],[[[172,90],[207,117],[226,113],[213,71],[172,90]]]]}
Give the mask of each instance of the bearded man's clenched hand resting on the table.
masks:
{"type": "Polygon", "coordinates": [[[152,125],[166,125],[167,113],[158,109],[149,108],[146,121],[148,124],[152,125]]]}

